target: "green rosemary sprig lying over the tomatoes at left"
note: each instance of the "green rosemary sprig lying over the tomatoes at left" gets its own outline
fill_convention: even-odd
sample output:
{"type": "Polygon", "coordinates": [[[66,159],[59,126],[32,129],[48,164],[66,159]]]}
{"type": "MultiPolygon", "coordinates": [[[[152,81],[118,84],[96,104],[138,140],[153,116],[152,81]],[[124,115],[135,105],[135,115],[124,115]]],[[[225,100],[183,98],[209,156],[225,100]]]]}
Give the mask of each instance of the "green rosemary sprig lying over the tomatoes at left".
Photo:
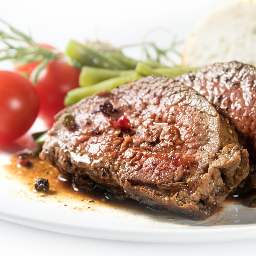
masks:
{"type": "Polygon", "coordinates": [[[42,61],[42,63],[35,69],[34,84],[36,85],[40,71],[50,60],[61,59],[61,53],[41,47],[39,44],[36,44],[31,36],[27,36],[18,29],[13,28],[4,20],[0,19],[0,21],[12,32],[12,34],[7,34],[0,30],[0,40],[6,46],[5,49],[0,50],[0,61],[12,60],[16,62],[17,66],[22,66],[30,62],[42,61]],[[24,46],[22,46],[22,44],[24,46]]]}

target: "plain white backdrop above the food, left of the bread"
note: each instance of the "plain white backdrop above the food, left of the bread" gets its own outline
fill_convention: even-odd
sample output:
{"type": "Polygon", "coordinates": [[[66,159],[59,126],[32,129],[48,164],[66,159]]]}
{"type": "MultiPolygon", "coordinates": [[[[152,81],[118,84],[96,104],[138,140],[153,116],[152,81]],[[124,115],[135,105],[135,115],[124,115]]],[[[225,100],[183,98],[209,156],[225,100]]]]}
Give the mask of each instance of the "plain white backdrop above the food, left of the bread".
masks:
{"type": "MultiPolygon", "coordinates": [[[[191,28],[202,17],[225,0],[9,0],[0,1],[0,18],[38,43],[48,43],[65,51],[68,41],[107,41],[114,46],[140,43],[152,28],[161,27],[148,38],[167,48],[172,36],[188,37],[191,28]]],[[[0,24],[0,29],[5,26],[0,24]]],[[[139,59],[137,48],[125,52],[139,59]]],[[[178,63],[179,64],[179,63],[178,63]]],[[[2,69],[9,66],[1,64],[2,69]]]]}

